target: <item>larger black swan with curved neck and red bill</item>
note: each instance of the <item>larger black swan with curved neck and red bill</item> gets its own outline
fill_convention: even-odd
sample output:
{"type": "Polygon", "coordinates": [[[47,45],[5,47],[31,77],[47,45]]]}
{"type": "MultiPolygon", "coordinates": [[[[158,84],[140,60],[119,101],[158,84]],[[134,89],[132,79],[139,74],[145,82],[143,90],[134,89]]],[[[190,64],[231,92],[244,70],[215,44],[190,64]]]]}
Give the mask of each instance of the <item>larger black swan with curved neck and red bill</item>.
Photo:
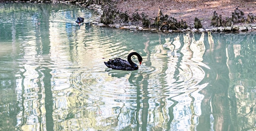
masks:
{"type": "Polygon", "coordinates": [[[115,58],[114,60],[109,59],[109,61],[104,62],[108,68],[112,68],[115,70],[138,70],[138,66],[132,62],[131,57],[133,55],[136,55],[139,60],[139,65],[141,64],[142,57],[137,52],[131,52],[128,55],[128,61],[121,59],[121,58],[115,58]]]}

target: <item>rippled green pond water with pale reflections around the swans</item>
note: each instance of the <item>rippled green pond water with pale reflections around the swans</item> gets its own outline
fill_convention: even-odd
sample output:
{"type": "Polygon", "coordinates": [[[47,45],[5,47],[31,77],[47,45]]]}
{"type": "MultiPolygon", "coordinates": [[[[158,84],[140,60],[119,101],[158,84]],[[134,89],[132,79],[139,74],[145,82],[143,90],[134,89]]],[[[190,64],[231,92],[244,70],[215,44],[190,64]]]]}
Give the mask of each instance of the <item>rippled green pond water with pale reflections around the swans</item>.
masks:
{"type": "Polygon", "coordinates": [[[0,130],[256,130],[255,32],[150,33],[94,26],[96,17],[0,4],[0,130]],[[134,51],[139,70],[103,63],[134,51]]]}

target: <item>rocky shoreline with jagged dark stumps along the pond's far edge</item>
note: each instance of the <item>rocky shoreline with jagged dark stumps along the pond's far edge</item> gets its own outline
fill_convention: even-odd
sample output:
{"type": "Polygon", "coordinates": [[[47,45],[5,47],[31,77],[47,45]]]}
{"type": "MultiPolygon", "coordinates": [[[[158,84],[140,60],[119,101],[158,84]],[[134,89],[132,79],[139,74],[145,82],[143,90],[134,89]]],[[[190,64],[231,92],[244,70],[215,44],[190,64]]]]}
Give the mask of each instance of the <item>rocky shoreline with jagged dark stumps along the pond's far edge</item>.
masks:
{"type": "Polygon", "coordinates": [[[247,17],[243,11],[236,8],[231,13],[231,17],[222,18],[216,11],[211,17],[211,26],[203,28],[202,22],[195,17],[193,26],[188,26],[182,19],[177,21],[174,17],[164,15],[161,7],[158,7],[158,13],[155,18],[148,17],[147,14],[141,13],[123,13],[117,11],[115,0],[5,0],[0,2],[30,2],[30,3],[62,3],[76,4],[97,11],[99,16],[92,22],[97,26],[108,26],[111,28],[153,31],[153,32],[248,32],[256,31],[256,16],[249,13],[247,17]]]}

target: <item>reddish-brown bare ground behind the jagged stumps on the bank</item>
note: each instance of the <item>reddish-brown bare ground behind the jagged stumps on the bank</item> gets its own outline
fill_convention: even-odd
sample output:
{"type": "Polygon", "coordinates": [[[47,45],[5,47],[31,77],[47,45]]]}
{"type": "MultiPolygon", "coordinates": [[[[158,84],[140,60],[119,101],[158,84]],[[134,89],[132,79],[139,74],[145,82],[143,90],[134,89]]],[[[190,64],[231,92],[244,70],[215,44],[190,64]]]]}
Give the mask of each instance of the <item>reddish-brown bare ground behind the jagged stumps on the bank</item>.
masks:
{"type": "Polygon", "coordinates": [[[195,17],[202,21],[204,28],[210,27],[213,11],[222,18],[231,17],[236,7],[256,15],[256,0],[118,0],[117,10],[127,11],[128,14],[144,12],[150,18],[157,16],[158,7],[162,13],[175,17],[178,21],[183,19],[193,27],[195,17]]]}

